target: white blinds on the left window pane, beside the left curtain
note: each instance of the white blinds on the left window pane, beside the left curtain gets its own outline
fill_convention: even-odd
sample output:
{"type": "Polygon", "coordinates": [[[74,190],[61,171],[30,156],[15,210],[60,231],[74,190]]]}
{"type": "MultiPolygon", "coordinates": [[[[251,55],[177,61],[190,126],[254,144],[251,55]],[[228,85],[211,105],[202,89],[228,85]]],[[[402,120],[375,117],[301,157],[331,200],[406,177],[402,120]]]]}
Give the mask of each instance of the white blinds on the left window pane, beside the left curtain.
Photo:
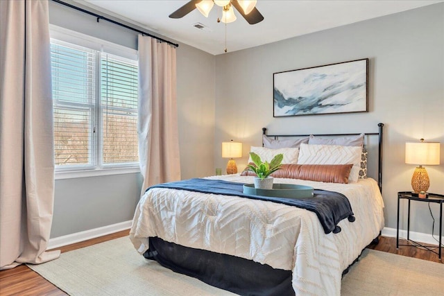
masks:
{"type": "Polygon", "coordinates": [[[51,43],[56,165],[94,165],[96,55],[93,50],[51,43]]]}

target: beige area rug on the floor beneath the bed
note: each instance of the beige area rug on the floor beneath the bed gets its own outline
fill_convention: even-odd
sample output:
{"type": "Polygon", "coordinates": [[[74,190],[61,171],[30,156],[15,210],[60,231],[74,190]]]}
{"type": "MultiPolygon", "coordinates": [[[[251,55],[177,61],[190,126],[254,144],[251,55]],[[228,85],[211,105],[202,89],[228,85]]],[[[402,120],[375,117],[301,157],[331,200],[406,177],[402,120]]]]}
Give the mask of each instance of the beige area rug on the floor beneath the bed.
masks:
{"type": "MultiPolygon", "coordinates": [[[[28,265],[69,295],[234,295],[163,268],[128,237],[28,265]]],[[[444,264],[365,250],[343,277],[342,295],[444,295],[444,264]]]]}

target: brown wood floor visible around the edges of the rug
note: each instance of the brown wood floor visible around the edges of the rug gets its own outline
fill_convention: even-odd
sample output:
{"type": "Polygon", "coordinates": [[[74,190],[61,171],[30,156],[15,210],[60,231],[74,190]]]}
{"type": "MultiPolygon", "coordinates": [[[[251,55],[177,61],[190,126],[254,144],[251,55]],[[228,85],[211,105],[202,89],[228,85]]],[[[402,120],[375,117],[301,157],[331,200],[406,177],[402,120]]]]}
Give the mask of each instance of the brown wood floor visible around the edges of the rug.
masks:
{"type": "MultiPolygon", "coordinates": [[[[89,241],[83,241],[80,243],[74,243],[73,245],[67,245],[60,247],[62,252],[69,252],[71,250],[79,249],[80,247],[87,247],[89,245],[95,245],[96,243],[103,243],[104,241],[110,241],[114,238],[127,236],[128,230],[117,232],[115,234],[109,234],[108,236],[102,236],[100,238],[93,238],[89,241]]],[[[400,242],[406,244],[405,241],[400,242]]],[[[438,255],[427,250],[422,250],[418,247],[404,247],[400,246],[399,250],[396,250],[396,238],[381,236],[379,243],[369,247],[370,249],[388,252],[393,254],[400,254],[402,256],[410,256],[418,259],[424,259],[428,261],[443,263],[438,259],[438,255]]],[[[11,270],[0,271],[0,295],[67,295],[62,290],[46,281],[43,277],[40,277],[36,272],[29,269],[26,265],[20,265],[11,270]]]]}

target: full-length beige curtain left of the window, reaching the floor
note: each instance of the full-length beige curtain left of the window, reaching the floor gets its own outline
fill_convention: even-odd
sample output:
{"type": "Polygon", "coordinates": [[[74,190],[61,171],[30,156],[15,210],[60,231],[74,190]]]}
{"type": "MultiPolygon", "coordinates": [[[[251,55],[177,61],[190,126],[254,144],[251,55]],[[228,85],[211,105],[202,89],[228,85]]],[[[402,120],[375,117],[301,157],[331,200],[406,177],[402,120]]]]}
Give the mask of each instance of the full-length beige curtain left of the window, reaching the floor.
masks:
{"type": "Polygon", "coordinates": [[[0,269],[45,252],[54,153],[48,2],[0,0],[0,269]]]}

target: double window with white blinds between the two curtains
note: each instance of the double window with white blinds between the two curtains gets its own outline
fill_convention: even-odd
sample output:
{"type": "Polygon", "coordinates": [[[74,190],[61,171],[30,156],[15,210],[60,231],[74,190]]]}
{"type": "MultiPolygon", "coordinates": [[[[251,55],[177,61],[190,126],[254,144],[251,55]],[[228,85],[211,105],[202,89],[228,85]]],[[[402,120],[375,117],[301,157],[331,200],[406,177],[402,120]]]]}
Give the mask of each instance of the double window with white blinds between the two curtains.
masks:
{"type": "Polygon", "coordinates": [[[56,172],[138,167],[137,60],[51,39],[56,172]]]}

